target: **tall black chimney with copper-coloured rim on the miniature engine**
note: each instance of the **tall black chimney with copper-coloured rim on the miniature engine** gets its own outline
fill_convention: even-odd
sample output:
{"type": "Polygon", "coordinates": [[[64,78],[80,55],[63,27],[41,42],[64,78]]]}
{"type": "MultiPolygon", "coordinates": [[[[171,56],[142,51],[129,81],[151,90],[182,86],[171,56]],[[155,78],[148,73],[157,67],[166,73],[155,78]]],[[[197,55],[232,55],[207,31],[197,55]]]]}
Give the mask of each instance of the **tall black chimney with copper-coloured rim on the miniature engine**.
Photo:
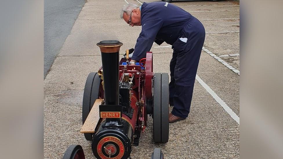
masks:
{"type": "Polygon", "coordinates": [[[119,50],[123,43],[104,40],[96,44],[101,51],[106,105],[119,105],[119,50]]]}

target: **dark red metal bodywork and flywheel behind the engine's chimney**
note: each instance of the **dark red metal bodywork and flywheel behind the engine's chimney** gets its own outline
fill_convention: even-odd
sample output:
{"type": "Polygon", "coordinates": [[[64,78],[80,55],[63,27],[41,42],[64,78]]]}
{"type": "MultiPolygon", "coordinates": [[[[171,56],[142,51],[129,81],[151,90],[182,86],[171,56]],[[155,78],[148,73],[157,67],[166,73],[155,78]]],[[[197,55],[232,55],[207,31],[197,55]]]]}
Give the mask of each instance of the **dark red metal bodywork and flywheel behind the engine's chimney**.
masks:
{"type": "Polygon", "coordinates": [[[130,119],[127,115],[123,114],[125,118],[135,125],[135,128],[144,132],[147,126],[147,109],[146,100],[152,100],[152,79],[153,79],[153,63],[152,52],[147,52],[146,62],[140,61],[139,65],[122,65],[126,62],[122,58],[119,63],[119,78],[122,80],[123,74],[128,73],[130,77],[134,76],[132,81],[131,91],[131,107],[135,110],[133,118],[130,119]],[[138,103],[138,104],[137,104],[138,103]],[[138,113],[140,112],[140,113],[138,113]],[[138,116],[139,115],[139,116],[138,116]]]}

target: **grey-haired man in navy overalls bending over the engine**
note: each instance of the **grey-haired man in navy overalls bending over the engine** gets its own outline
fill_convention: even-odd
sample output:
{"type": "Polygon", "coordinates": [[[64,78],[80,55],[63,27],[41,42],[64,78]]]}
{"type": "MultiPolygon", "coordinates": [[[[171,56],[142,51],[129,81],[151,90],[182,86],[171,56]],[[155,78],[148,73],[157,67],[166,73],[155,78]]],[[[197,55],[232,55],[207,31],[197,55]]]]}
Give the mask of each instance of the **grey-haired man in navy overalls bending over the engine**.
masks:
{"type": "Polygon", "coordinates": [[[172,45],[169,103],[174,105],[169,123],[188,117],[205,30],[202,23],[185,10],[166,2],[129,4],[121,18],[130,26],[142,26],[131,63],[146,57],[153,42],[172,45]]]}

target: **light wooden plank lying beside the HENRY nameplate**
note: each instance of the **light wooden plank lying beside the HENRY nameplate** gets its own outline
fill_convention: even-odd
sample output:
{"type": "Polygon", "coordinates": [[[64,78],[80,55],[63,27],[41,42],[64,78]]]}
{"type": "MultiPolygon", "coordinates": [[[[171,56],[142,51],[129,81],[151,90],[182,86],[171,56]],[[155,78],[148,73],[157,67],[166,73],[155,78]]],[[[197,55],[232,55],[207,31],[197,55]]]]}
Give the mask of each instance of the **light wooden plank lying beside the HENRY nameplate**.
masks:
{"type": "Polygon", "coordinates": [[[94,133],[94,129],[99,120],[99,105],[101,105],[103,99],[95,100],[84,125],[81,127],[80,133],[94,133]]]}

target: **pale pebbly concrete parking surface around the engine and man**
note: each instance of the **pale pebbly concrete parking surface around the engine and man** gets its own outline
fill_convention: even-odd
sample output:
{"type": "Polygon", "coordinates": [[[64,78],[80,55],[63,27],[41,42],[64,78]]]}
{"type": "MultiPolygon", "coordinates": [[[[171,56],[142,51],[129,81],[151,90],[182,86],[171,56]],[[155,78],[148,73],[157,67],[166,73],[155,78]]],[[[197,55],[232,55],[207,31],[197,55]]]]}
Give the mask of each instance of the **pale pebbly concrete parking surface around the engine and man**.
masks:
{"type": "MultiPolygon", "coordinates": [[[[143,0],[152,2],[156,0],[143,0]]],[[[96,43],[119,40],[120,57],[133,48],[141,27],[129,27],[120,10],[136,0],[88,0],[44,80],[44,158],[61,159],[67,147],[79,144],[86,158],[95,158],[91,142],[79,131],[86,78],[101,66],[96,43]]],[[[206,30],[191,112],[169,125],[169,141],[153,142],[153,120],[133,147],[133,159],[150,158],[161,148],[164,158],[240,158],[240,5],[234,1],[173,1],[199,19],[206,30]]],[[[170,45],[153,44],[153,71],[169,73],[170,45]]],[[[172,107],[170,107],[170,110],[172,107]]]]}

